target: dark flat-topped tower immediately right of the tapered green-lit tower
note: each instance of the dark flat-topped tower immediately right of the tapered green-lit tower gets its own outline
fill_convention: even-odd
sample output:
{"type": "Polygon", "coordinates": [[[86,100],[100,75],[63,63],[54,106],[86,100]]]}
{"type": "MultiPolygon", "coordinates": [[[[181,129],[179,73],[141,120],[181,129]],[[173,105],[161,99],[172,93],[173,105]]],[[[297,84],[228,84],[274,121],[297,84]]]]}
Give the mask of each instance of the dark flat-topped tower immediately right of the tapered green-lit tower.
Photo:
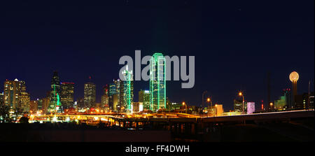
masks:
{"type": "Polygon", "coordinates": [[[74,102],[74,83],[62,83],[60,101],[63,109],[73,108],[74,102]]]}

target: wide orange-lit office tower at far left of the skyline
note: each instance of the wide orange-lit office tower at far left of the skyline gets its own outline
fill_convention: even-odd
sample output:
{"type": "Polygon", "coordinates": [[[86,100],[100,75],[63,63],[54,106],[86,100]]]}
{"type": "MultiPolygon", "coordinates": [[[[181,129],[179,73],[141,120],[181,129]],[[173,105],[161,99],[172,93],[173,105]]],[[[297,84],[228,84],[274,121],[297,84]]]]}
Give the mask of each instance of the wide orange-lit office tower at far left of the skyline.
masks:
{"type": "Polygon", "coordinates": [[[4,104],[10,106],[11,111],[20,108],[20,82],[18,79],[4,82],[3,97],[4,104]]]}

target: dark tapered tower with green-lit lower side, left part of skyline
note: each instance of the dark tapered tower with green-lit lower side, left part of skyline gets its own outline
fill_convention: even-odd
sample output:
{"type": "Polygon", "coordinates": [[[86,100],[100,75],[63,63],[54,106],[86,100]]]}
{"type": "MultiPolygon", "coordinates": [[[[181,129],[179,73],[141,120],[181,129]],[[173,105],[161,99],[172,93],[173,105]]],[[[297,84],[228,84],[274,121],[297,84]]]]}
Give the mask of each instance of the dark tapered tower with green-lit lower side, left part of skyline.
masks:
{"type": "Polygon", "coordinates": [[[60,79],[57,71],[54,71],[50,83],[50,106],[48,107],[48,111],[62,112],[60,103],[60,79]]]}

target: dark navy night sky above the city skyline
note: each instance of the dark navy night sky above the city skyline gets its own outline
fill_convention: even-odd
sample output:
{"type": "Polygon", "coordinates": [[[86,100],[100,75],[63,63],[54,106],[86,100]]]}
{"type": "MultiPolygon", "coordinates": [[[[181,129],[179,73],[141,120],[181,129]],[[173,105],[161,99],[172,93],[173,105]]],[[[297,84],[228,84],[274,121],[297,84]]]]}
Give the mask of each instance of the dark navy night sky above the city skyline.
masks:
{"type": "MultiPolygon", "coordinates": [[[[25,80],[32,100],[45,97],[57,70],[75,83],[75,99],[91,76],[100,102],[102,87],[119,78],[118,60],[134,50],[195,56],[195,87],[167,82],[171,101],[200,105],[204,90],[225,111],[239,90],[246,101],[266,101],[267,71],[272,100],[290,87],[291,71],[300,74],[298,92],[307,92],[314,1],[0,2],[0,82],[25,80]]],[[[148,84],[134,82],[134,101],[148,84]]]]}

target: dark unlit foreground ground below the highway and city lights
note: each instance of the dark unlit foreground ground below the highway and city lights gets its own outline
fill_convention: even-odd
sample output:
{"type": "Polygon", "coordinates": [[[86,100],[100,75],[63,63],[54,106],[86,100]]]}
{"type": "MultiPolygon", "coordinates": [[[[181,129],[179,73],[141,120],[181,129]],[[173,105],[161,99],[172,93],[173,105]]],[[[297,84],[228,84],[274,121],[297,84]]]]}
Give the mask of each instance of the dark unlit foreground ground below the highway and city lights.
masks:
{"type": "Polygon", "coordinates": [[[314,119],[263,125],[218,125],[202,133],[174,134],[167,130],[127,130],[73,123],[0,124],[1,142],[243,142],[314,141],[314,119]]]}

